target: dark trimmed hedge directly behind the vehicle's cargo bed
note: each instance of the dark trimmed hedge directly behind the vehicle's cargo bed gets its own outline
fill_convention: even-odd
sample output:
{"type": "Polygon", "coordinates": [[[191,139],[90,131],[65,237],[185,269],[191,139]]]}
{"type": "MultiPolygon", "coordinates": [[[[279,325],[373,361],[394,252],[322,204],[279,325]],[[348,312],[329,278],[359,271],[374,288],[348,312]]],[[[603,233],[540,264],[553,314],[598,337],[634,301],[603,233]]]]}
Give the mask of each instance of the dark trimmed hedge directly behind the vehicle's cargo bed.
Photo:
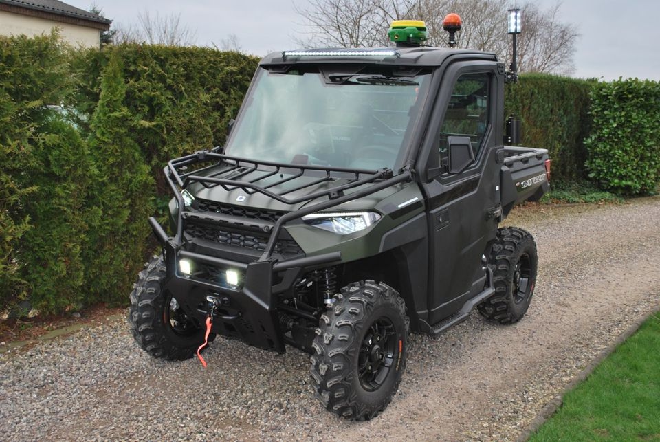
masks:
{"type": "Polygon", "coordinates": [[[548,74],[522,74],[505,86],[505,115],[522,120],[522,146],[547,148],[553,181],[586,178],[584,138],[591,118],[593,82],[548,74]]]}

